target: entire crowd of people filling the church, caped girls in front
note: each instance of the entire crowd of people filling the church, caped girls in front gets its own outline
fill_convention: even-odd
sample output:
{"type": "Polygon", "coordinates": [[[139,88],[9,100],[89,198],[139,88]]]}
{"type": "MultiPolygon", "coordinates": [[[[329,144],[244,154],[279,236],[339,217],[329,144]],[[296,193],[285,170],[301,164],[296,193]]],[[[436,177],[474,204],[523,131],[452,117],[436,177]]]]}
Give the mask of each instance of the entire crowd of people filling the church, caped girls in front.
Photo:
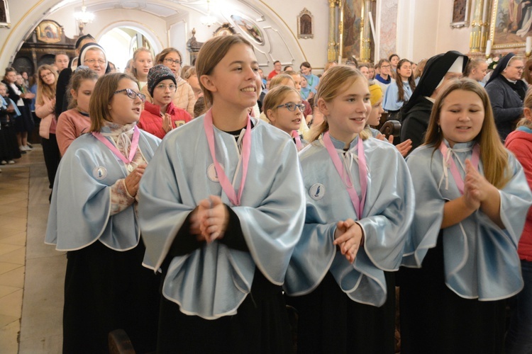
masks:
{"type": "Polygon", "coordinates": [[[394,353],[397,309],[401,353],[532,350],[532,62],[75,47],[0,84],[1,164],[39,125],[64,353],[394,353]]]}

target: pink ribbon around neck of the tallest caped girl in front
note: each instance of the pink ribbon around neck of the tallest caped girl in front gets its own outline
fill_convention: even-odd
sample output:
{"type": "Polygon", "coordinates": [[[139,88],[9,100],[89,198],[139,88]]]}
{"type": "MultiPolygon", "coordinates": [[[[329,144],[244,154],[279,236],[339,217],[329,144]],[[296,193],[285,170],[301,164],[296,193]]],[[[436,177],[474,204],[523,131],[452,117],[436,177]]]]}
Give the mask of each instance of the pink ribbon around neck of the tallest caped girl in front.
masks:
{"type": "MultiPolygon", "coordinates": [[[[204,128],[205,135],[207,136],[207,142],[209,143],[209,151],[211,152],[211,157],[214,162],[214,169],[216,169],[216,174],[218,175],[218,181],[220,181],[221,188],[227,197],[233,203],[233,205],[240,205],[240,198],[242,198],[242,192],[244,190],[245,178],[248,176],[248,165],[250,161],[250,152],[251,152],[251,118],[248,115],[248,125],[245,127],[244,138],[242,142],[242,181],[240,182],[240,188],[238,189],[238,195],[235,193],[235,188],[229,178],[227,178],[226,173],[218,164],[216,160],[216,150],[214,147],[214,127],[212,122],[212,111],[207,111],[204,118],[204,128]]],[[[238,170],[235,171],[238,173],[238,170]]]]}

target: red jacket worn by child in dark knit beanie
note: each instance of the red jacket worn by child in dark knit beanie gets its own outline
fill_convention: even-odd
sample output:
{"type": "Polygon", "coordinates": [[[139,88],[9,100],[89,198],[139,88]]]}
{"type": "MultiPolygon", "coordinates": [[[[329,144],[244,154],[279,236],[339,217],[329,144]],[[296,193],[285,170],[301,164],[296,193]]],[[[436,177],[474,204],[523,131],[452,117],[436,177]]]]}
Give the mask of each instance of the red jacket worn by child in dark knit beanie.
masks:
{"type": "MultiPolygon", "coordinates": [[[[174,103],[168,103],[166,113],[172,116],[172,129],[190,122],[192,118],[189,113],[179,107],[174,106],[174,103]]],[[[140,120],[138,127],[146,132],[149,132],[156,137],[162,139],[166,132],[162,129],[162,117],[160,106],[154,105],[146,101],[144,103],[144,110],[140,113],[140,120]]]]}

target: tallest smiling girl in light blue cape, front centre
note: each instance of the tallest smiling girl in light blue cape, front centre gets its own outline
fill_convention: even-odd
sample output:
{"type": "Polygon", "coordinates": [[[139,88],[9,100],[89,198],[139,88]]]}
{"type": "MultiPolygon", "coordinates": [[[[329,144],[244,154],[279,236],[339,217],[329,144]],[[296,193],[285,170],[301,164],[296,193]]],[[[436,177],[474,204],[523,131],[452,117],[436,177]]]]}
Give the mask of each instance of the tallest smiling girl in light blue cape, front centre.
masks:
{"type": "Polygon", "coordinates": [[[250,117],[261,80],[239,35],[196,62],[207,113],[163,139],[140,183],[145,264],[162,269],[159,353],[288,353],[281,285],[304,222],[292,139],[250,117]]]}

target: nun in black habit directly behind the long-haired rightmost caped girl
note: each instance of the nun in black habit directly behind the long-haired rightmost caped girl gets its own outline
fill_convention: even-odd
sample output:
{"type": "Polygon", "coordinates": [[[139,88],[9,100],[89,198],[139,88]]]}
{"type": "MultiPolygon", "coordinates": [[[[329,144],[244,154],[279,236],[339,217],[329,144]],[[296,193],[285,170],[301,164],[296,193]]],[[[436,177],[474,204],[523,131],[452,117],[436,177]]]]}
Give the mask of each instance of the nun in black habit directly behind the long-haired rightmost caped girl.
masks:
{"type": "Polygon", "coordinates": [[[411,152],[425,141],[428,120],[440,87],[450,79],[460,79],[466,64],[467,57],[455,50],[428,59],[418,86],[401,108],[401,142],[411,139],[411,152]]]}

